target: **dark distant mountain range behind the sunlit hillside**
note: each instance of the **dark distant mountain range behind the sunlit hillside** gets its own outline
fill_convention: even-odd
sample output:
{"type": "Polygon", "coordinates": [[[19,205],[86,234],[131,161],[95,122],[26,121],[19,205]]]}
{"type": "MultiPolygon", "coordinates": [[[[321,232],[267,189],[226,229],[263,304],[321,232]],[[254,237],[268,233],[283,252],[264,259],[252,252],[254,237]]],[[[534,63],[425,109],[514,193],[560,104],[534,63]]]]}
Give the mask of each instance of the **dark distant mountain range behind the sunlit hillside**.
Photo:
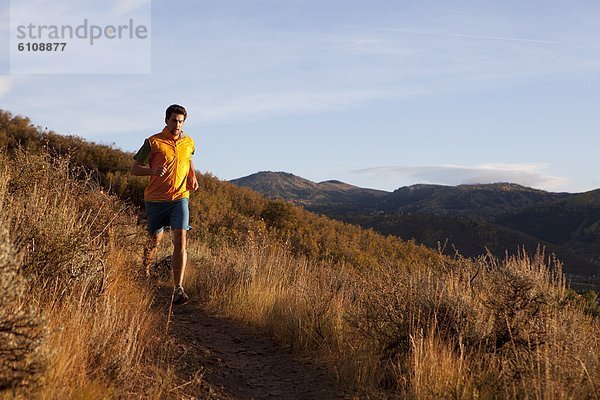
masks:
{"type": "Polygon", "coordinates": [[[502,182],[417,184],[387,192],[268,171],[230,182],[446,253],[502,257],[539,246],[556,254],[578,281],[599,278],[600,189],[553,193],[502,182]]]}

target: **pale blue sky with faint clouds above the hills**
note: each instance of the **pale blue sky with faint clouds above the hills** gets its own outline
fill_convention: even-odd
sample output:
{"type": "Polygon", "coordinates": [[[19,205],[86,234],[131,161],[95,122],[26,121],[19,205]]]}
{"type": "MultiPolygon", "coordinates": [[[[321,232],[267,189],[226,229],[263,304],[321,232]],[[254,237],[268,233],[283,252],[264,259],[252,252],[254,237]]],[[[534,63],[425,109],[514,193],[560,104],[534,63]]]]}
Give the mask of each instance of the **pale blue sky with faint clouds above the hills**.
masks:
{"type": "Polygon", "coordinates": [[[134,151],[179,103],[196,167],[222,179],[271,170],[385,190],[600,188],[600,2],[151,7],[150,74],[3,75],[0,108],[134,151]]]}

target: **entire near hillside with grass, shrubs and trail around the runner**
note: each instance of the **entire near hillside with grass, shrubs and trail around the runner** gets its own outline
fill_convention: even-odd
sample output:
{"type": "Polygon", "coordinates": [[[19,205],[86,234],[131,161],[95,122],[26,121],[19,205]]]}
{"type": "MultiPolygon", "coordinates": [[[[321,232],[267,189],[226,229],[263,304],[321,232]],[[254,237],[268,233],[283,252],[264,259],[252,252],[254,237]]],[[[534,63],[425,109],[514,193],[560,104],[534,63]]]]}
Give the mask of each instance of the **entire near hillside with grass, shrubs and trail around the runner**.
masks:
{"type": "Polygon", "coordinates": [[[5,112],[0,143],[2,398],[597,393],[595,294],[542,254],[448,257],[205,174],[171,309],[131,154],[5,112]]]}

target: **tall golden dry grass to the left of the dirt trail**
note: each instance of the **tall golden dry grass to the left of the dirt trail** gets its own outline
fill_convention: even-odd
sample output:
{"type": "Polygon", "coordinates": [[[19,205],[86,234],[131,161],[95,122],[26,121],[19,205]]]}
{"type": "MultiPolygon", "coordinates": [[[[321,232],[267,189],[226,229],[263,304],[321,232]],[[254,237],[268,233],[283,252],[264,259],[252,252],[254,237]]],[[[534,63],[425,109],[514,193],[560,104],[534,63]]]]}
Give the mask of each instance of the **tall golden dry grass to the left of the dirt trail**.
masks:
{"type": "Polygon", "coordinates": [[[0,165],[0,226],[9,227],[0,259],[11,262],[2,270],[0,327],[31,337],[19,342],[23,354],[7,350],[10,365],[3,356],[0,367],[28,370],[9,371],[0,398],[184,396],[173,390],[182,382],[166,316],[138,281],[145,234],[135,215],[66,159],[0,154],[0,165]],[[7,293],[16,296],[10,304],[7,293]]]}

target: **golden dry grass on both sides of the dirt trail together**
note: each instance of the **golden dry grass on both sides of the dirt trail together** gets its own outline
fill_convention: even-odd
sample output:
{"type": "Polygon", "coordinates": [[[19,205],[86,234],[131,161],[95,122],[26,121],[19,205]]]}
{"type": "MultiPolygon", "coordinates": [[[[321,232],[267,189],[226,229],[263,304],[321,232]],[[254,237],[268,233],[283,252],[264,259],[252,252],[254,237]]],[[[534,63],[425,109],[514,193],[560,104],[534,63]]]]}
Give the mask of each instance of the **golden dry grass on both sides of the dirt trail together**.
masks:
{"type": "MultiPolygon", "coordinates": [[[[28,385],[9,383],[0,397],[185,396],[165,316],[137,282],[144,232],[133,213],[68,161],[0,154],[0,165],[0,226],[9,227],[0,258],[18,264],[3,270],[14,288],[2,291],[19,293],[14,308],[2,303],[0,324],[26,310],[35,334],[20,360],[36,366],[28,385]]],[[[600,395],[598,319],[569,300],[560,264],[539,252],[406,254],[361,271],[294,256],[267,236],[190,241],[188,253],[191,295],[329,365],[360,397],[600,395]]]]}

